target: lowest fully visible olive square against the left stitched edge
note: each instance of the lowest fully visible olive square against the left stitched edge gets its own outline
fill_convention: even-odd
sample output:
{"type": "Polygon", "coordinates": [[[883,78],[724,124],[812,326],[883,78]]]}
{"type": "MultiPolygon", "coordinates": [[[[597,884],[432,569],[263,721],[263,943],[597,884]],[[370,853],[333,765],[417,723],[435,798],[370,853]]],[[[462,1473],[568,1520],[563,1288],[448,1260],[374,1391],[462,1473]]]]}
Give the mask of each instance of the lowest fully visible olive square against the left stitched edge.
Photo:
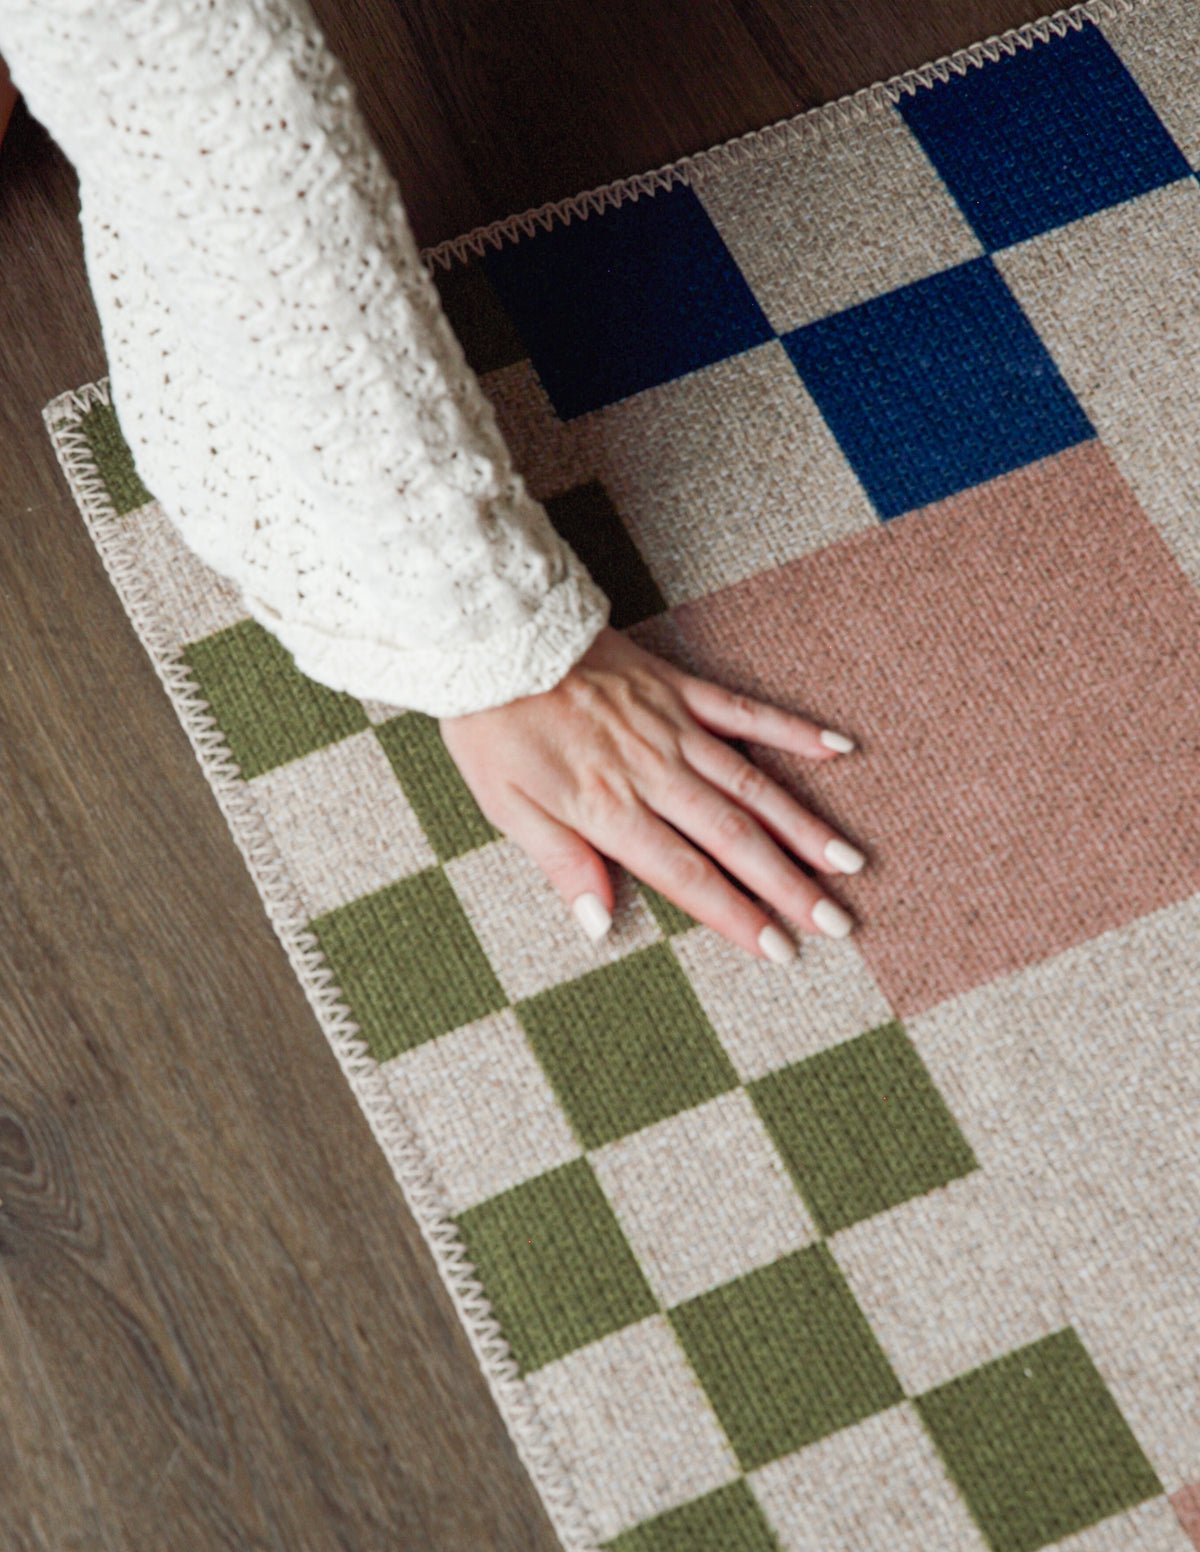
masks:
{"type": "Polygon", "coordinates": [[[456,1223],[522,1374],[658,1313],[587,1159],[512,1186],[456,1223]]]}

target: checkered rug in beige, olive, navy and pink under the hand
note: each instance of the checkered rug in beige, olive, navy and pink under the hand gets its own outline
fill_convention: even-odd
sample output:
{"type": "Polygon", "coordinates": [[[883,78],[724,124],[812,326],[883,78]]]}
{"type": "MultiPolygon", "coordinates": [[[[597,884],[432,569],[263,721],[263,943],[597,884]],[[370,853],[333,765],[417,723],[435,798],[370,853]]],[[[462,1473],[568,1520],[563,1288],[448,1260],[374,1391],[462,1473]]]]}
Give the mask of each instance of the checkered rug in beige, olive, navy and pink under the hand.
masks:
{"type": "Polygon", "coordinates": [[[858,740],[750,751],[869,854],[786,967],[591,947],[45,411],[571,1552],[1200,1546],[1197,166],[1091,5],[428,255],[613,625],[858,740]]]}

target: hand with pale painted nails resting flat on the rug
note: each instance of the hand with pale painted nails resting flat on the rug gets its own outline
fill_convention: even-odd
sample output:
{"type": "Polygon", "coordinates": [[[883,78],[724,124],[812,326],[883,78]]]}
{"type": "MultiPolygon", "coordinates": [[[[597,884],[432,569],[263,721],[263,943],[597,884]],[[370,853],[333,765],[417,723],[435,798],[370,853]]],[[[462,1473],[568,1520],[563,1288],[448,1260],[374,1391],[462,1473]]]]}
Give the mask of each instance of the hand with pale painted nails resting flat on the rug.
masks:
{"type": "Polygon", "coordinates": [[[610,625],[551,689],[438,726],[484,816],[593,941],[613,909],[598,850],[756,958],[796,950],[713,857],[810,931],[845,937],[854,925],[782,846],[823,872],[858,872],[863,855],[714,736],[829,760],[854,748],[841,734],[685,674],[610,625]]]}

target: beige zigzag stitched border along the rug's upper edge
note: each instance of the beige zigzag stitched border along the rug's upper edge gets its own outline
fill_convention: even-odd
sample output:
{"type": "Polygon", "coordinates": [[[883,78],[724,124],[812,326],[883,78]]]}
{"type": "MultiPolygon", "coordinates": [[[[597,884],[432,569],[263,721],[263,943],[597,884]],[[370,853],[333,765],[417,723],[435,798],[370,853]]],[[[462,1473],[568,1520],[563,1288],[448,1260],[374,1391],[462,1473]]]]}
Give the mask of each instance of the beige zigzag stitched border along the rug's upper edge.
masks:
{"type": "Polygon", "coordinates": [[[570,225],[573,219],[587,220],[593,211],[599,214],[607,206],[616,208],[643,194],[657,194],[677,183],[689,186],[700,183],[706,174],[725,171],[754,157],[776,155],[786,147],[803,146],[820,135],[854,129],[865,120],[894,107],[902,96],[914,96],[922,87],[931,87],[935,81],[949,81],[952,74],[962,76],[970,68],[994,64],[1001,54],[1015,54],[1018,48],[1032,48],[1034,43],[1048,42],[1051,36],[1065,37],[1068,31],[1082,31],[1087,22],[1127,16],[1149,3],[1152,0],[1084,0],[1080,5],[1056,11],[1037,22],[1026,22],[1025,26],[1009,28],[1008,33],[998,33],[981,43],[944,54],[916,70],[905,70],[888,81],[851,92],[834,102],[806,109],[792,118],[767,124],[764,129],[751,129],[745,135],[736,135],[708,151],[668,161],[664,166],[655,168],[654,172],[616,178],[613,183],[573,194],[570,199],[550,200],[536,210],[522,211],[518,216],[506,216],[484,227],[475,227],[458,237],[422,248],[421,258],[430,268],[436,265],[449,270],[455,261],[466,264],[472,256],[483,258],[489,247],[501,248],[505,242],[532,237],[539,227],[550,231],[556,223],[570,225]]]}

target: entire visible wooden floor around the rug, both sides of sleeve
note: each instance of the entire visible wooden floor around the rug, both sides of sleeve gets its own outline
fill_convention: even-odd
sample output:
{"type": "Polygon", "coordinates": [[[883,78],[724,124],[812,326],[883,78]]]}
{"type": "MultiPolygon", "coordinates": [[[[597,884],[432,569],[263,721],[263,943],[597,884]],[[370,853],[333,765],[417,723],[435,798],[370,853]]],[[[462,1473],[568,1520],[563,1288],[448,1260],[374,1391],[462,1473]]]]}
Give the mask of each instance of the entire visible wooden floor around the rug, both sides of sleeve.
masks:
{"type": "MultiPolygon", "coordinates": [[[[424,245],[1046,8],[315,6],[424,245]]],[[[42,428],[50,397],[104,372],[76,210],[19,106],[0,151],[0,1549],[551,1552],[42,428]]]]}

